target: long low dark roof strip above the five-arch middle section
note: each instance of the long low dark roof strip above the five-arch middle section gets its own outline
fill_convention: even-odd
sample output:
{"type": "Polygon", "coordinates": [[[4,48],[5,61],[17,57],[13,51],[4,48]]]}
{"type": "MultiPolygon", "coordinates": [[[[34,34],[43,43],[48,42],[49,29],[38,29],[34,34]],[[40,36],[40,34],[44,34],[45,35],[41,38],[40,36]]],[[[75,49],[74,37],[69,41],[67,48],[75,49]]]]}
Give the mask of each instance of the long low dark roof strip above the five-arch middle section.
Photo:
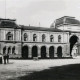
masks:
{"type": "Polygon", "coordinates": [[[45,27],[35,27],[35,26],[21,26],[23,30],[36,30],[36,31],[51,31],[51,32],[62,32],[60,29],[56,28],[45,28],[45,27]]]}

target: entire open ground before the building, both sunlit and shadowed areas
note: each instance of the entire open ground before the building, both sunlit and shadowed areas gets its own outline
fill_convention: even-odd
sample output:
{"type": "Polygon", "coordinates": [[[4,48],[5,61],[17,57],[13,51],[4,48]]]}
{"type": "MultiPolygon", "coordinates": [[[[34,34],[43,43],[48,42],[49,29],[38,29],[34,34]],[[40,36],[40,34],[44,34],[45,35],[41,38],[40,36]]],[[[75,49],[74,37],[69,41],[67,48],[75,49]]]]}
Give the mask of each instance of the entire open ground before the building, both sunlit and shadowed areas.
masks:
{"type": "Polygon", "coordinates": [[[0,64],[0,80],[80,80],[79,67],[80,58],[10,59],[9,64],[0,64]]]}

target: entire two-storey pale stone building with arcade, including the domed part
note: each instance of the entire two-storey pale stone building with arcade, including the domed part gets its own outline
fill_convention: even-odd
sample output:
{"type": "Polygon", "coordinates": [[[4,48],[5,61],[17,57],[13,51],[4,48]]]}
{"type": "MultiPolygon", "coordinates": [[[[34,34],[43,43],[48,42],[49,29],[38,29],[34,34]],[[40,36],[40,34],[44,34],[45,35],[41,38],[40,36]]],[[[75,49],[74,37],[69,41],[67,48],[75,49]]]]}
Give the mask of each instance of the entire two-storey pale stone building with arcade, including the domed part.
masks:
{"type": "Polygon", "coordinates": [[[17,25],[16,20],[0,19],[0,52],[9,53],[10,58],[70,57],[80,52],[79,29],[74,31],[79,26],[80,22],[69,16],[56,19],[50,28],[17,25]]]}

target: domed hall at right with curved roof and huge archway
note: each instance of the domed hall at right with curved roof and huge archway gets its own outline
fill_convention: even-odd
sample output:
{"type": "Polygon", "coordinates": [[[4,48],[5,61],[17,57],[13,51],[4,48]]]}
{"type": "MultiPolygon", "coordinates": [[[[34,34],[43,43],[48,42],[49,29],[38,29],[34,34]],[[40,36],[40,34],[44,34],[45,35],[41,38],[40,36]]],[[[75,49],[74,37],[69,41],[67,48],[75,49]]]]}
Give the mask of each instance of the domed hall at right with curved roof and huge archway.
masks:
{"type": "Polygon", "coordinates": [[[51,27],[69,32],[70,55],[80,55],[80,21],[75,17],[64,16],[56,19],[51,27]]]}

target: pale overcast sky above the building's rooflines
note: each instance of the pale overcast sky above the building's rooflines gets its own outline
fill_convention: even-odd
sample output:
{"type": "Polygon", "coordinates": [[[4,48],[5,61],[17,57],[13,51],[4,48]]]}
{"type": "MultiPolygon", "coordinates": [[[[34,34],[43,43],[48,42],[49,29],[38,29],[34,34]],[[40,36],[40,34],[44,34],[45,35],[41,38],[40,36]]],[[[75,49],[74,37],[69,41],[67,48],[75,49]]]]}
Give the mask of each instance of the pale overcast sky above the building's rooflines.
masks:
{"type": "Polygon", "coordinates": [[[80,20],[80,0],[0,0],[0,18],[5,18],[5,12],[19,25],[50,27],[63,16],[80,20]]]}

